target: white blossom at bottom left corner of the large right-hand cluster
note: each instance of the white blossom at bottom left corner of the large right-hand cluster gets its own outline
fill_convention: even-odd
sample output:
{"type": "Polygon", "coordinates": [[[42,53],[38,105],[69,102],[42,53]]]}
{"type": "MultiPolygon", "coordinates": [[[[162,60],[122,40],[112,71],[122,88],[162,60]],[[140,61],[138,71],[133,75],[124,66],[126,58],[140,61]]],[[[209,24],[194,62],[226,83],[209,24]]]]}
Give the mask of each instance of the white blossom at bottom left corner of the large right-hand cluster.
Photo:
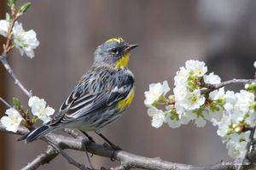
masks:
{"type": "Polygon", "coordinates": [[[148,108],[148,116],[152,117],[152,127],[159,128],[164,122],[166,122],[165,113],[155,107],[148,108]]]}

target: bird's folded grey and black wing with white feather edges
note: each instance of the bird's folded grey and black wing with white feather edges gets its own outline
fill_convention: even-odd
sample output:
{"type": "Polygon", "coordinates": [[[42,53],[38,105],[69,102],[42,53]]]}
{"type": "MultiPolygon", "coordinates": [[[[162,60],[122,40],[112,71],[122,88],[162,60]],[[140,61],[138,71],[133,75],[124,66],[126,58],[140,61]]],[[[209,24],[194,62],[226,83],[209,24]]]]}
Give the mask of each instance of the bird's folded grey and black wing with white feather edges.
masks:
{"type": "Polygon", "coordinates": [[[120,99],[125,99],[133,85],[133,77],[120,72],[99,71],[94,76],[86,74],[50,124],[72,122],[95,111],[104,111],[120,99]]]}

